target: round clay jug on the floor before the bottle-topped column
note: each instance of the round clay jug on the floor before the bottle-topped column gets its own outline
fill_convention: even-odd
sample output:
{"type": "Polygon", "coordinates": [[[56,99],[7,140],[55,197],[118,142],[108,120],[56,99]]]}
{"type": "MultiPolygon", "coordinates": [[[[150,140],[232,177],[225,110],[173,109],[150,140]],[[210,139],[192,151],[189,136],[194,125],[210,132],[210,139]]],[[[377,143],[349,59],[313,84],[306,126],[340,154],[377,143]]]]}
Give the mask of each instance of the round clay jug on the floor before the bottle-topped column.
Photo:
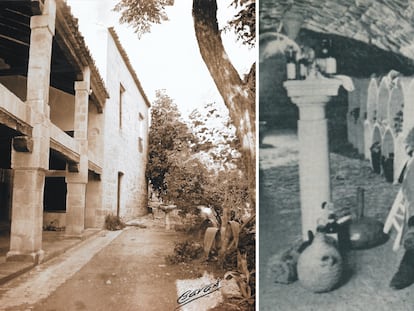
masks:
{"type": "Polygon", "coordinates": [[[342,257],[323,232],[317,232],[313,242],[299,256],[300,284],[315,293],[334,289],[342,277],[342,257]]]}

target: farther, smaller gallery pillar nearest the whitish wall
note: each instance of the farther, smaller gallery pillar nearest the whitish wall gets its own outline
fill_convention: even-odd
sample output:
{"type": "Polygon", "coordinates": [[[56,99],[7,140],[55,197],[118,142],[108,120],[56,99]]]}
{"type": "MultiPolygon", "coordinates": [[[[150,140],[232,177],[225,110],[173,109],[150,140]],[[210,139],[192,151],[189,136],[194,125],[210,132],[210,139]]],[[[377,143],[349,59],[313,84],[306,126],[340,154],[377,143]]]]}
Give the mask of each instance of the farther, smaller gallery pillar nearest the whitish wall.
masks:
{"type": "Polygon", "coordinates": [[[74,138],[80,146],[78,172],[67,172],[66,235],[80,237],[85,229],[86,185],[88,183],[88,103],[90,70],[85,68],[83,81],[75,82],[74,138]]]}

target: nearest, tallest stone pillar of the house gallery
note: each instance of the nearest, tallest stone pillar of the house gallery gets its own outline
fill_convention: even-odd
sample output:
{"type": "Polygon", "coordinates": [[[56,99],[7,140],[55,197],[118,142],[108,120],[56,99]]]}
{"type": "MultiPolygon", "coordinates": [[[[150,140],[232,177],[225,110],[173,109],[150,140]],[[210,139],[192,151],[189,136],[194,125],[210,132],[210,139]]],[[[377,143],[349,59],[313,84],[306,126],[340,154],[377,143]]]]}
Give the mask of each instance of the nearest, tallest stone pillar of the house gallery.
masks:
{"type": "Polygon", "coordinates": [[[27,109],[33,137],[26,140],[27,148],[12,151],[14,180],[8,261],[39,263],[43,259],[43,191],[45,170],[49,168],[48,101],[55,16],[55,0],[46,0],[43,15],[33,16],[30,21],[27,109]]]}

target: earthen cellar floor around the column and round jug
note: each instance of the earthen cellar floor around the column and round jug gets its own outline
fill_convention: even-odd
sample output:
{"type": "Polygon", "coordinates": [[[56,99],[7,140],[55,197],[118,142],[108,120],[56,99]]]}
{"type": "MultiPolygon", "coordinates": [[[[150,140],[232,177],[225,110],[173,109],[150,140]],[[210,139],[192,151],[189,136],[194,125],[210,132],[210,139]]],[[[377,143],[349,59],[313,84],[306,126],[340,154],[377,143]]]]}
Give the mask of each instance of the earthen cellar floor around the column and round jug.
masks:
{"type": "MultiPolygon", "coordinates": [[[[353,250],[348,255],[348,275],[328,293],[315,294],[298,281],[274,283],[268,276],[269,258],[286,250],[301,236],[298,140],[294,131],[268,133],[260,148],[259,265],[260,310],[411,310],[413,287],[393,290],[389,282],[404,253],[392,251],[394,236],[383,245],[353,250]]],[[[365,191],[365,215],[384,222],[399,185],[374,174],[366,160],[330,154],[333,201],[354,211],[356,188],[365,191]]]]}

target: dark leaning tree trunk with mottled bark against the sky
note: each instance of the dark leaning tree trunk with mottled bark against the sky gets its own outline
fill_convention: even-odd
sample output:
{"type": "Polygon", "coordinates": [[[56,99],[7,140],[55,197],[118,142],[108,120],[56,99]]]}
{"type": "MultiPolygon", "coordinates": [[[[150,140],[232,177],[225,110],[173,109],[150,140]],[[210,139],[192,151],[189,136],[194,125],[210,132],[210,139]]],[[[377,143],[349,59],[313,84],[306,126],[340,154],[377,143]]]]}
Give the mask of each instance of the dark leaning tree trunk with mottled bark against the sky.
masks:
{"type": "Polygon", "coordinates": [[[256,201],[255,94],[230,62],[221,40],[216,0],[193,0],[193,20],[201,57],[229,109],[240,140],[244,171],[249,180],[250,206],[256,201]]]}

